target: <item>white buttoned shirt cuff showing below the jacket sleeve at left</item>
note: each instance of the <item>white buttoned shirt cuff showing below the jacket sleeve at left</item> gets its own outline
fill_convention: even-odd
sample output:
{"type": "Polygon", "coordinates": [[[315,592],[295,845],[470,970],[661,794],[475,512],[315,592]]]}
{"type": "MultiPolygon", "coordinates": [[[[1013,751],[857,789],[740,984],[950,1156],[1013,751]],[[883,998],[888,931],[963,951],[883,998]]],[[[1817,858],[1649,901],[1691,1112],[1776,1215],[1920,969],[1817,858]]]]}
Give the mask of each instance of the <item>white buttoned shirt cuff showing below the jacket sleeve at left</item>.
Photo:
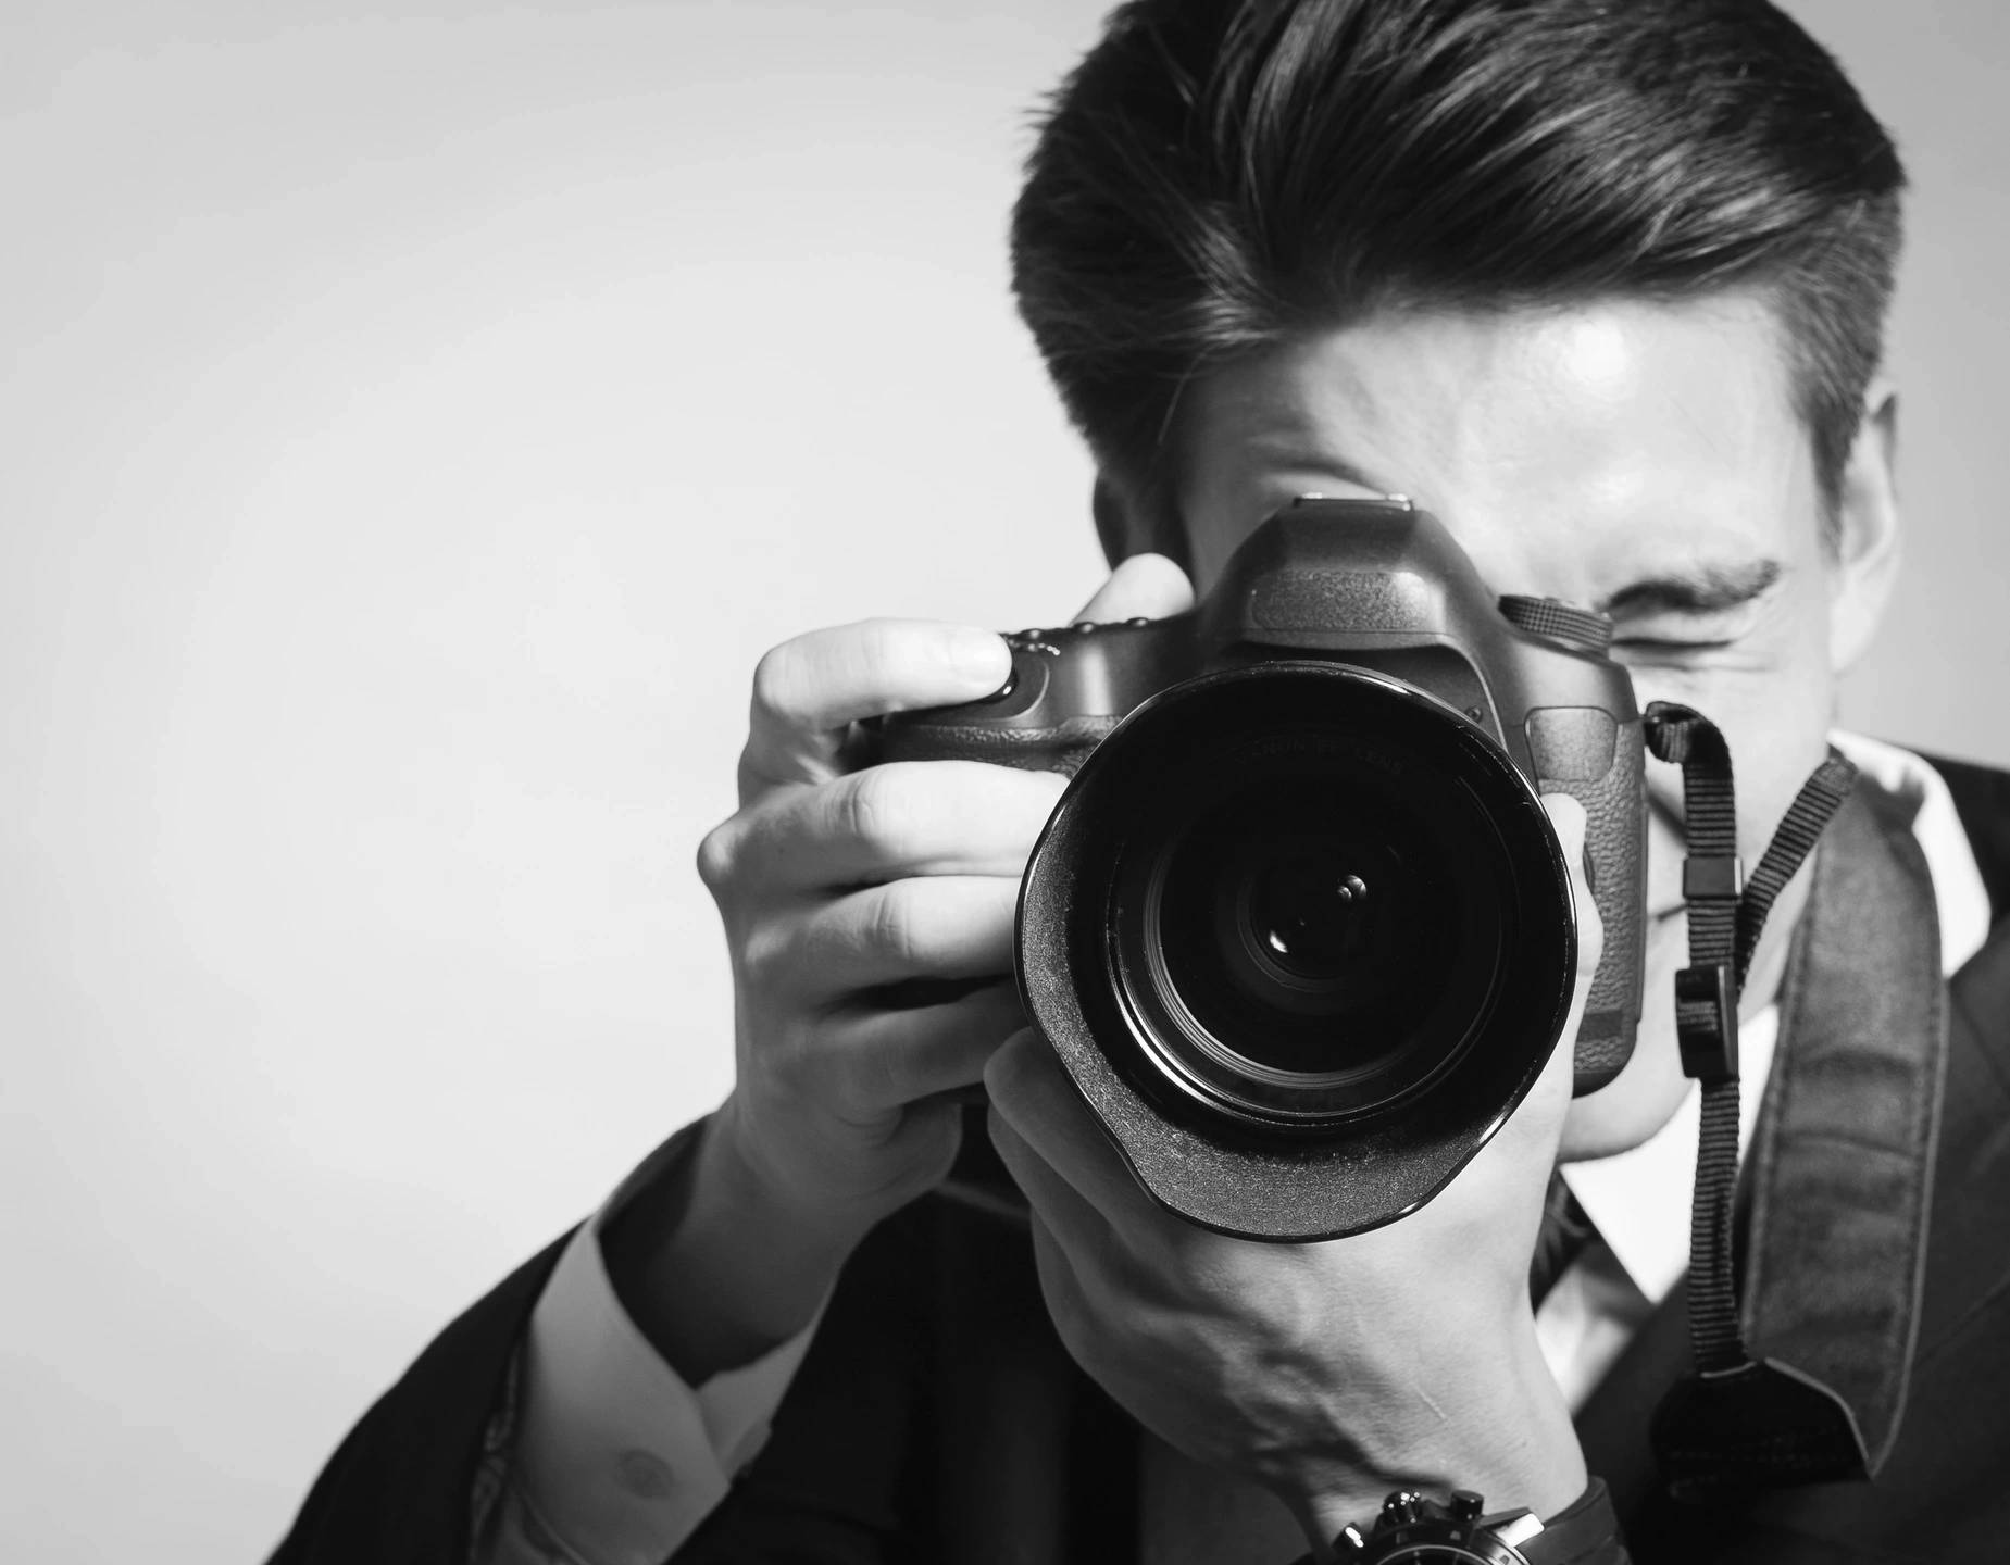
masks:
{"type": "Polygon", "coordinates": [[[573,1234],[531,1316],[517,1483],[585,1565],[661,1565],[697,1531],[768,1440],[822,1318],[697,1390],[629,1320],[601,1260],[601,1227],[689,1145],[673,1137],[573,1234]]]}

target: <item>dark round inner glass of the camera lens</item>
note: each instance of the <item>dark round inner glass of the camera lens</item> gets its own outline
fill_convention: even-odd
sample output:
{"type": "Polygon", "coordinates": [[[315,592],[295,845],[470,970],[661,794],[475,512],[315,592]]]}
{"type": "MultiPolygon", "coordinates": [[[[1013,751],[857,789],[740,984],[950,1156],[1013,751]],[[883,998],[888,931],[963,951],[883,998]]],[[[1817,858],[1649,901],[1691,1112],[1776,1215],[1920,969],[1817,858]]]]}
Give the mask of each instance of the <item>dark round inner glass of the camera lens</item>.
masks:
{"type": "Polygon", "coordinates": [[[1419,773],[1387,737],[1298,729],[1182,777],[1192,808],[1140,842],[1120,930],[1166,1065],[1244,1103],[1359,1109],[1457,1053],[1501,914],[1471,808],[1419,773]]]}

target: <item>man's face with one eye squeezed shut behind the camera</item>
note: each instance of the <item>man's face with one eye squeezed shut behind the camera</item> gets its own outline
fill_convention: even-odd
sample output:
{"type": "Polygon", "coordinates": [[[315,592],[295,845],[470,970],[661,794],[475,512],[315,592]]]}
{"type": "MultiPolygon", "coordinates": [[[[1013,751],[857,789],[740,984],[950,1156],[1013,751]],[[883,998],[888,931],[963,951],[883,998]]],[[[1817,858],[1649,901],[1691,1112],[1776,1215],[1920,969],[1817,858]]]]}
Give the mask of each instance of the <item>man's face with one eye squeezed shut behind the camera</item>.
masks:
{"type": "MultiPolygon", "coordinates": [[[[1771,315],[1725,295],[1554,311],[1387,311],[1196,384],[1174,502],[1204,595],[1292,496],[1401,492],[1495,593],[1594,605],[1640,705],[1680,701],[1731,741],[1739,850],[1755,864],[1825,753],[1835,679],[1895,554],[1887,424],[1859,442],[1835,544],[1771,315]]],[[[1648,966],[1640,1049],[1574,1105],[1566,1153],[1650,1135],[1680,1091],[1682,792],[1648,763],[1648,966]]],[[[1805,876],[1781,900],[1747,1011],[1777,984],[1805,876]]]]}

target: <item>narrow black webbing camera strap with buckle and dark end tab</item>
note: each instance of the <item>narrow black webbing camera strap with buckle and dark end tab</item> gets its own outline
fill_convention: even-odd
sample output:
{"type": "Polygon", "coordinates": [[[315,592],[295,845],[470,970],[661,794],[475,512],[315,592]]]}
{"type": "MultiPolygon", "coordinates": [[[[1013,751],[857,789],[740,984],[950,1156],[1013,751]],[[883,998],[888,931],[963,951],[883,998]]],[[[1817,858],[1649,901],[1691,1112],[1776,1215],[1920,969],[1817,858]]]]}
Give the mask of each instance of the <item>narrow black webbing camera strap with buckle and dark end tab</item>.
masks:
{"type": "Polygon", "coordinates": [[[1688,966],[1674,980],[1682,1073],[1700,1083],[1696,1189],[1688,1238],[1694,1374],[1660,1404],[1652,1444],[1670,1491],[1700,1499],[1863,1477],[1863,1436],[1833,1390],[1771,1358],[1755,1360],[1739,1320],[1739,994],[1773,902],[1849,798],[1855,767],[1835,749],[1801,786],[1747,880],[1725,735],[1690,707],[1656,701],[1644,735],[1682,767],[1688,858],[1688,966]]]}

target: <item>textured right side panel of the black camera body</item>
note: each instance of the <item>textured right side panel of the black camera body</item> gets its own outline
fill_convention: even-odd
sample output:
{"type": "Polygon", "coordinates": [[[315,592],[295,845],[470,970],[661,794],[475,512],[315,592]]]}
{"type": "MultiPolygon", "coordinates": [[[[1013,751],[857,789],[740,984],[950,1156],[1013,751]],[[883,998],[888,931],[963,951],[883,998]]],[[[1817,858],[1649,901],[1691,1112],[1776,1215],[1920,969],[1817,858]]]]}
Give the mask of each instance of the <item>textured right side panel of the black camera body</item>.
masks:
{"type": "Polygon", "coordinates": [[[1604,924],[1576,1043],[1576,1095],[1604,1087],[1632,1057],[1646,962],[1646,749],[1640,721],[1600,707],[1542,707],[1528,715],[1528,747],[1542,794],[1584,806],[1584,876],[1604,924]]]}

